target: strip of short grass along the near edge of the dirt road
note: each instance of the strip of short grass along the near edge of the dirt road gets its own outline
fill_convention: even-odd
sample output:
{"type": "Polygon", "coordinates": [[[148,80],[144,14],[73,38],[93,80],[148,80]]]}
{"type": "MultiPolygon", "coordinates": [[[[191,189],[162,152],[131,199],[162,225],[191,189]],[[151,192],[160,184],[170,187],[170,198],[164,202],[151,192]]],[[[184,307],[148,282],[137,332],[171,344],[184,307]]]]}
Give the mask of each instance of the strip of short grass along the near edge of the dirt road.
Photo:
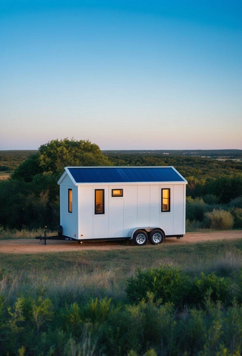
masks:
{"type": "Polygon", "coordinates": [[[103,251],[81,249],[71,252],[46,252],[41,254],[0,254],[1,268],[31,274],[41,273],[53,278],[70,273],[91,275],[95,271],[116,271],[120,280],[147,269],[169,264],[184,270],[210,271],[220,263],[238,266],[242,263],[242,240],[209,241],[189,245],[143,246],[122,250],[103,251]]]}

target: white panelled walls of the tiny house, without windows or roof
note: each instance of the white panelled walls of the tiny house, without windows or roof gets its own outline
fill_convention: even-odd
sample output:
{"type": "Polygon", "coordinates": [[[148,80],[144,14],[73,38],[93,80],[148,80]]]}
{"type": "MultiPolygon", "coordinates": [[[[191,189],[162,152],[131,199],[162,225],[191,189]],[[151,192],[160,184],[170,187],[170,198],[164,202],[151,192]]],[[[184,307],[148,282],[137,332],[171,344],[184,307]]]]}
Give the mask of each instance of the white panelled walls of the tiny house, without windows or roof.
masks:
{"type": "Polygon", "coordinates": [[[185,234],[183,184],[75,187],[66,176],[60,185],[60,200],[63,234],[69,237],[77,239],[128,237],[133,228],[144,226],[161,227],[166,235],[185,234]],[[72,213],[68,213],[68,188],[72,189],[72,213]],[[111,197],[111,189],[122,188],[123,197],[111,197]],[[170,188],[170,212],[161,213],[162,188],[170,188]],[[95,214],[95,189],[105,190],[104,215],[95,214]]]}

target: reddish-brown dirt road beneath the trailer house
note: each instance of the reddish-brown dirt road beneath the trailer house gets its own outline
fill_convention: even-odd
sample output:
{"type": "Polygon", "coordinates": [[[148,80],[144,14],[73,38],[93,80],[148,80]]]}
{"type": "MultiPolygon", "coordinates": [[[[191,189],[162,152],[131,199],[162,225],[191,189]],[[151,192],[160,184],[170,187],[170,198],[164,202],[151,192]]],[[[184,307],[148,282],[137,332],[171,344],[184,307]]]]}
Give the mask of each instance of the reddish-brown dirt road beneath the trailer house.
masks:
{"type": "MultiPolygon", "coordinates": [[[[235,240],[242,238],[242,230],[239,231],[215,231],[210,233],[188,232],[180,240],[170,237],[164,240],[164,245],[196,244],[197,242],[214,240],[235,240]]],[[[131,241],[83,241],[79,245],[76,241],[43,241],[35,239],[0,240],[0,253],[43,253],[65,252],[79,250],[115,250],[122,248],[134,248],[131,241]]],[[[152,248],[151,245],[147,245],[152,248]]],[[[141,247],[139,247],[141,248],[141,247]]]]}

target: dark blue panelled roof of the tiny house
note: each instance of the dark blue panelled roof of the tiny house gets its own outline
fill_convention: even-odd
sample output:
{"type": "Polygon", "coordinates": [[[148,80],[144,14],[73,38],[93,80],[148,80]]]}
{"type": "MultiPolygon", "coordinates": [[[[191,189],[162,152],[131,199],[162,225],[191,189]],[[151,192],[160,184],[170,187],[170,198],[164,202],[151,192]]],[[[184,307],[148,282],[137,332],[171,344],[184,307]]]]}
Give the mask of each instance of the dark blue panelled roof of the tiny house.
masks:
{"type": "Polygon", "coordinates": [[[76,183],[186,182],[173,167],[67,167],[76,183]]]}

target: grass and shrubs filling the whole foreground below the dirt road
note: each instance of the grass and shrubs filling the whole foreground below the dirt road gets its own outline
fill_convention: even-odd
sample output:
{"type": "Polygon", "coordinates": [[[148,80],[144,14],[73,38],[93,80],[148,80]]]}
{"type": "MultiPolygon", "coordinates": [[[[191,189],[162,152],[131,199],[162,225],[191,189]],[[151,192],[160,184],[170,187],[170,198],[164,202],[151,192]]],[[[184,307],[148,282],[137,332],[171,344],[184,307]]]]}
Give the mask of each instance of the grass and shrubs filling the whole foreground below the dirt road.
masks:
{"type": "Polygon", "coordinates": [[[1,355],[242,353],[242,240],[0,257],[1,355]]]}

